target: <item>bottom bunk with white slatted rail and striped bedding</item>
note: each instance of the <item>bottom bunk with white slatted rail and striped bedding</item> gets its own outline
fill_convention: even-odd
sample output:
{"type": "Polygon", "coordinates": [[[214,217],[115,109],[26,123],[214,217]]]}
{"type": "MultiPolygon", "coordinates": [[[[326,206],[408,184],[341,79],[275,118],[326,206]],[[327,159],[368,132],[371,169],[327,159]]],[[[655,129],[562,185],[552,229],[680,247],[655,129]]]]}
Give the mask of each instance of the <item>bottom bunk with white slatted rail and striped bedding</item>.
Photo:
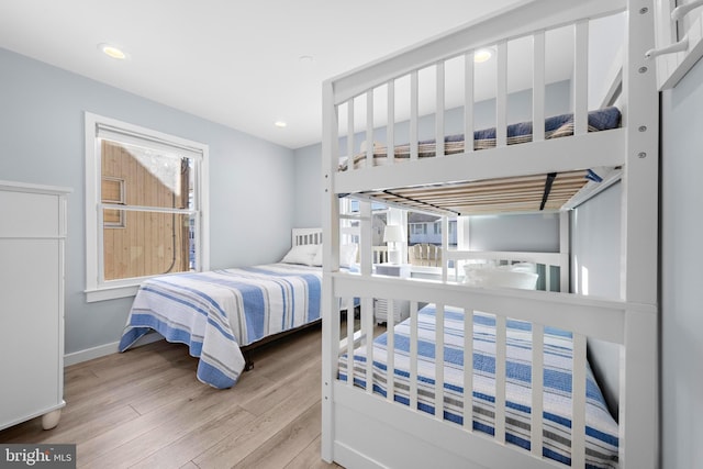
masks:
{"type": "MultiPolygon", "coordinates": [[[[539,277],[566,269],[537,263],[539,277]]],[[[342,327],[338,315],[323,317],[323,459],[344,467],[621,469],[648,459],[643,442],[656,422],[643,407],[651,393],[643,383],[651,377],[647,337],[656,310],[507,288],[514,282],[504,283],[511,270],[503,267],[520,272],[515,266],[524,263],[468,264],[465,277],[442,282],[330,275],[330,304],[358,298],[360,308],[342,327]],[[475,281],[473,270],[501,276],[475,281]],[[378,325],[380,302],[388,311],[409,303],[409,315],[388,314],[378,325]],[[618,350],[616,415],[587,358],[590,340],[618,350]]]]}

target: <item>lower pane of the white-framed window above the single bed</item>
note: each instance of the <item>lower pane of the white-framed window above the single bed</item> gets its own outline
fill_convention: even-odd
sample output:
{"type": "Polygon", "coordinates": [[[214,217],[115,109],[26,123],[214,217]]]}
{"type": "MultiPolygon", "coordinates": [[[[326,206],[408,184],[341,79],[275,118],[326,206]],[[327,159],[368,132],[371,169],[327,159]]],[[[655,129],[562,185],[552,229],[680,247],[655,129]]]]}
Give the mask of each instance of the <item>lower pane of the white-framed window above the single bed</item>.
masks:
{"type": "Polygon", "coordinates": [[[180,213],[104,210],[104,279],[119,280],[193,269],[194,216],[180,213]],[[122,228],[108,216],[124,220],[122,228]]]}

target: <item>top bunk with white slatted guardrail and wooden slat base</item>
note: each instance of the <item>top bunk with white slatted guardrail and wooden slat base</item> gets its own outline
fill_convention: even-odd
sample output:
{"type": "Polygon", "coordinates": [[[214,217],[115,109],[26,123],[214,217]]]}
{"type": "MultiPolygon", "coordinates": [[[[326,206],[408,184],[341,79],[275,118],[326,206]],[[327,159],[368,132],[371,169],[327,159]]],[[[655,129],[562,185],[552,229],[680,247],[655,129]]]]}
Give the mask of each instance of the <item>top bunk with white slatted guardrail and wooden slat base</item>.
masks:
{"type": "Polygon", "coordinates": [[[625,9],[526,2],[326,81],[333,193],[470,215],[570,209],[617,181],[625,9]]]}

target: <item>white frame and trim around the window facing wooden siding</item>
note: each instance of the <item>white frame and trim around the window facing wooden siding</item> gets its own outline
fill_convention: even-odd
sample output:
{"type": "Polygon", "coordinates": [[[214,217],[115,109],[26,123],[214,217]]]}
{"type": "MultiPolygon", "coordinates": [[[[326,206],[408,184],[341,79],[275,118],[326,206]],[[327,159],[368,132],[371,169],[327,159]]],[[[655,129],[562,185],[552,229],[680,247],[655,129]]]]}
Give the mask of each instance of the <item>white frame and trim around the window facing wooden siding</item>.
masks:
{"type": "Polygon", "coordinates": [[[149,277],[138,277],[121,280],[104,280],[102,255],[102,231],[100,222],[100,185],[102,171],[100,167],[100,141],[98,127],[112,127],[118,132],[133,135],[136,138],[148,139],[154,146],[163,144],[169,147],[187,148],[200,153],[200,167],[196,170],[194,190],[199,201],[200,235],[197,239],[196,259],[197,270],[210,269],[210,200],[207,181],[209,180],[209,146],[199,142],[169,135],[163,132],[142,127],[105,118],[90,112],[85,113],[85,145],[86,145],[86,298],[88,302],[112,300],[133,297],[140,283],[149,277]],[[198,268],[199,267],[199,268],[198,268]]]}

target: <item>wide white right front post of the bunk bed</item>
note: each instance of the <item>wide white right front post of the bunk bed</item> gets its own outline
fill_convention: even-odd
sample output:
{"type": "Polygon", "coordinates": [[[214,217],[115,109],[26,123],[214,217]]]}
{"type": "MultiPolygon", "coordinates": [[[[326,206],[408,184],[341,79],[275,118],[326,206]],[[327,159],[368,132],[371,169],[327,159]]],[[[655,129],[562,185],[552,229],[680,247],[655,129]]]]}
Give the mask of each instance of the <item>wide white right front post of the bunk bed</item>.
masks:
{"type": "Polygon", "coordinates": [[[659,466],[658,434],[658,170],[659,100],[654,64],[654,3],[628,1],[623,70],[627,129],[623,175],[622,297],[626,301],[621,355],[621,458],[623,468],[659,466]]]}

